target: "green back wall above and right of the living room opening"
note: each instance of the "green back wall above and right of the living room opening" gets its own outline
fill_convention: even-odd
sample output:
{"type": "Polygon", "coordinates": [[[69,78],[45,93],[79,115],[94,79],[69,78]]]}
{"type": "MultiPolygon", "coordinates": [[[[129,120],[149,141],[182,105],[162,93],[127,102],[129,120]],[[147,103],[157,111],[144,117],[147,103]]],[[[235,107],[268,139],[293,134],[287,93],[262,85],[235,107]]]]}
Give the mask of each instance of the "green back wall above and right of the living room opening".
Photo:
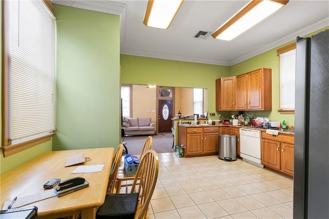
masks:
{"type": "MultiPolygon", "coordinates": [[[[229,67],[121,54],[121,83],[207,88],[207,111],[215,113],[215,80],[229,76],[229,67]]],[[[215,117],[213,117],[215,118],[215,117]]]]}

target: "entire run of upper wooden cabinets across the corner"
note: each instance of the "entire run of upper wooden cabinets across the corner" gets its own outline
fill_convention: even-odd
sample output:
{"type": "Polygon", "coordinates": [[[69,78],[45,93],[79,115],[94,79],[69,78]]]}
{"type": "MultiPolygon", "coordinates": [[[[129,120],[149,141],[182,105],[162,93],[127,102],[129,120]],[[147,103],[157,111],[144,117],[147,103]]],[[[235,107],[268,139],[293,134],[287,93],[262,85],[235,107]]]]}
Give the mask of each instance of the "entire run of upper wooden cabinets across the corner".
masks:
{"type": "Polygon", "coordinates": [[[260,68],[216,80],[216,111],[271,110],[272,71],[260,68]],[[233,79],[234,78],[234,79],[233,79]],[[235,80],[231,88],[228,81],[235,80]],[[234,89],[231,91],[230,89],[234,89]],[[235,94],[235,97],[232,97],[235,94]],[[231,100],[233,99],[233,100],[231,100]],[[230,104],[232,102],[232,104],[230,104]]]}

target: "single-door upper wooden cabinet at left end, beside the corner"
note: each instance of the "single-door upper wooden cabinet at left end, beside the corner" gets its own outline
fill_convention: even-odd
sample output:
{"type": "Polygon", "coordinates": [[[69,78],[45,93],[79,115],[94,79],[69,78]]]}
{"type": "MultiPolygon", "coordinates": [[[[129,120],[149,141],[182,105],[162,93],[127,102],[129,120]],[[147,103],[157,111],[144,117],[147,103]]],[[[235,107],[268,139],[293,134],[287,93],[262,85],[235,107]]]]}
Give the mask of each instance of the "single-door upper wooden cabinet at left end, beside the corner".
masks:
{"type": "Polygon", "coordinates": [[[216,111],[235,110],[235,77],[216,79],[216,111]]]}

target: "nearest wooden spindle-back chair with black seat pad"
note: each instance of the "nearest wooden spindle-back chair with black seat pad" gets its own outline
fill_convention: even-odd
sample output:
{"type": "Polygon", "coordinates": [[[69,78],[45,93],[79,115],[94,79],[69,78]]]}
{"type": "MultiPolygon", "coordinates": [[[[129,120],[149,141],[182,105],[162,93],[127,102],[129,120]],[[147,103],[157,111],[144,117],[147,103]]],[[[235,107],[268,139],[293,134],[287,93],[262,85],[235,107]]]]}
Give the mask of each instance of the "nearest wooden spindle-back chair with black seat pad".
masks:
{"type": "Polygon", "coordinates": [[[155,151],[149,150],[142,157],[129,194],[109,194],[96,212],[96,219],[133,216],[142,219],[149,216],[149,204],[159,172],[159,159],[155,151]],[[132,206],[127,211],[126,206],[132,206]],[[135,213],[136,212],[136,213],[135,213]]]}

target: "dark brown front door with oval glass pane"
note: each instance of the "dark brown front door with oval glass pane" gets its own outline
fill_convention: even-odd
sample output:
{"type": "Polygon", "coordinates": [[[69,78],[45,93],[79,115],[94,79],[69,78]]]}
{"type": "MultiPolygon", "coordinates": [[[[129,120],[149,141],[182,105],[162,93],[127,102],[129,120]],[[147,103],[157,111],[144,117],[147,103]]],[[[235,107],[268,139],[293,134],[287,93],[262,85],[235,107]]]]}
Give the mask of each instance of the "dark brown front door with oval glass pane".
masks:
{"type": "Polygon", "coordinates": [[[158,132],[171,132],[173,100],[158,100],[158,132]]]}

